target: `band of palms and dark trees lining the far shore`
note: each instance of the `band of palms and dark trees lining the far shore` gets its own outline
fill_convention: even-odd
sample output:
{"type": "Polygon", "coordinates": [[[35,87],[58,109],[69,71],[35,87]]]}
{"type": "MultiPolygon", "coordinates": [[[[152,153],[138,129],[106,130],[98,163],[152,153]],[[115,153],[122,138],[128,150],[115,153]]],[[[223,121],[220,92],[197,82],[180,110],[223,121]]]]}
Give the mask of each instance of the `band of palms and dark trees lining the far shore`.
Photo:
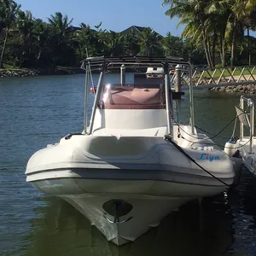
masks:
{"type": "Polygon", "coordinates": [[[73,26],[61,12],[44,21],[15,0],[0,0],[0,77],[84,73],[79,64],[87,55],[176,56],[212,69],[256,64],[250,34],[256,30],[255,0],[161,2],[168,7],[165,15],[183,24],[180,37],[142,26],[122,32],[103,29],[102,22],[73,26]]]}

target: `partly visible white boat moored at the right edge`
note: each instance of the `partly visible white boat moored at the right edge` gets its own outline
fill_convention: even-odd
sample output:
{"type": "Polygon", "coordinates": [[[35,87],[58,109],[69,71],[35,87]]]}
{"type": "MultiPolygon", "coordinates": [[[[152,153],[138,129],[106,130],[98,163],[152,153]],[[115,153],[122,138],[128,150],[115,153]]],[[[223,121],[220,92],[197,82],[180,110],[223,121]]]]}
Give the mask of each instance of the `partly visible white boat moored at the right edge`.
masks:
{"type": "MultiPolygon", "coordinates": [[[[240,97],[240,104],[235,106],[236,120],[239,121],[239,134],[236,135],[236,122],[232,136],[225,144],[224,151],[231,155],[241,155],[243,166],[256,176],[256,137],[254,137],[254,102],[252,98],[240,97]],[[247,133],[247,136],[245,134],[247,133]]],[[[241,176],[240,175],[237,175],[241,176]]]]}

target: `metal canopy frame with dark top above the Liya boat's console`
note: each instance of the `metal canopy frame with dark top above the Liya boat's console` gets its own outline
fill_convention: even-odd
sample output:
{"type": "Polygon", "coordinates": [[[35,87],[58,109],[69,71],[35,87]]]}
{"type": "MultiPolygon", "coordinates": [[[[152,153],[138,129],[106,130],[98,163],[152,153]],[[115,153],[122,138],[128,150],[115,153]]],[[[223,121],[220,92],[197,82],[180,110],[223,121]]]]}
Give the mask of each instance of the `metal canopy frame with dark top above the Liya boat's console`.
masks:
{"type": "MultiPolygon", "coordinates": [[[[104,76],[105,73],[113,71],[113,69],[119,69],[121,71],[120,77],[122,79],[122,69],[125,68],[144,68],[144,67],[162,67],[164,70],[164,91],[166,102],[166,119],[167,119],[167,132],[172,137],[173,133],[173,103],[172,93],[166,93],[171,89],[170,86],[170,71],[175,69],[177,65],[181,65],[183,70],[189,73],[189,105],[190,105],[190,125],[192,134],[195,134],[195,119],[194,119],[194,101],[193,101],[193,84],[192,84],[192,65],[189,61],[183,61],[182,58],[177,57],[163,57],[163,56],[112,56],[112,57],[88,57],[82,61],[81,68],[86,71],[85,79],[85,101],[84,101],[84,133],[90,135],[93,130],[94,119],[96,115],[96,108],[98,108],[98,102],[100,102],[102,96],[102,90],[104,89],[104,76]],[[100,72],[98,84],[96,87],[96,96],[93,104],[89,131],[87,128],[87,106],[88,106],[88,93],[89,93],[89,76],[91,72],[100,72]]],[[[94,85],[94,84],[92,84],[94,85]]],[[[122,86],[122,83],[121,83],[122,86]]]]}

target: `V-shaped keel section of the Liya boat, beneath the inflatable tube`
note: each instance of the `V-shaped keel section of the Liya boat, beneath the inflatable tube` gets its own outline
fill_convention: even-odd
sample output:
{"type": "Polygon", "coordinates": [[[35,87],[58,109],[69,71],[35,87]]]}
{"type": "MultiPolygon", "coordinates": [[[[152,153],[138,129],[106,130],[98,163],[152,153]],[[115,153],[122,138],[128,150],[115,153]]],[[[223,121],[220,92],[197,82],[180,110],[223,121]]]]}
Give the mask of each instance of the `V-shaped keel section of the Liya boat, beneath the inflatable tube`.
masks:
{"type": "Polygon", "coordinates": [[[62,199],[68,201],[79,212],[84,214],[100,230],[108,241],[117,245],[135,241],[151,227],[160,224],[170,212],[177,210],[189,198],[171,198],[165,196],[133,195],[133,194],[84,194],[84,195],[62,195],[62,199]],[[113,223],[113,216],[102,209],[102,205],[116,198],[128,202],[132,206],[131,212],[119,218],[123,223],[113,223]],[[107,216],[106,216],[107,215],[107,216]],[[125,222],[125,220],[128,221],[125,222]]]}

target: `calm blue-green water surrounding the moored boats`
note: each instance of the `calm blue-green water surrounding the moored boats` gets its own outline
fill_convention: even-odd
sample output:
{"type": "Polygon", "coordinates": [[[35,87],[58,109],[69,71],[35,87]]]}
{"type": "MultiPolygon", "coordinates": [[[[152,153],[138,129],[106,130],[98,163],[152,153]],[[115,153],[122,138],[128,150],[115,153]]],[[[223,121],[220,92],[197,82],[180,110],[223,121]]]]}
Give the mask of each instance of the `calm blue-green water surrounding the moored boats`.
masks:
{"type": "MultiPolygon", "coordinates": [[[[196,125],[217,133],[234,118],[236,102],[238,96],[196,90],[196,125]]],[[[177,103],[183,122],[187,103],[188,95],[177,103]]],[[[256,255],[256,178],[247,172],[236,190],[202,207],[189,203],[124,247],[108,243],[65,201],[33,189],[24,175],[29,157],[82,131],[83,120],[83,75],[0,79],[0,255],[256,255]]],[[[231,131],[215,141],[224,144],[231,131]]]]}

